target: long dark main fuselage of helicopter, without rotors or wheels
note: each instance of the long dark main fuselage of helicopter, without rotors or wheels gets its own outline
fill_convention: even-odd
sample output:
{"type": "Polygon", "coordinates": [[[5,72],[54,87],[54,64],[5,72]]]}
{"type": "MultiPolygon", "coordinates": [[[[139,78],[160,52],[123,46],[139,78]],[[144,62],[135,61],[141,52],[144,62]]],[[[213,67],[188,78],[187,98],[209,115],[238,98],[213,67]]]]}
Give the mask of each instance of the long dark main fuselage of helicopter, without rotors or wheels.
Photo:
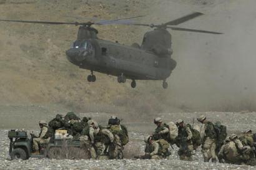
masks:
{"type": "Polygon", "coordinates": [[[153,52],[101,39],[76,40],[66,51],[67,59],[80,68],[132,80],[165,80],[172,59],[153,52]]]}

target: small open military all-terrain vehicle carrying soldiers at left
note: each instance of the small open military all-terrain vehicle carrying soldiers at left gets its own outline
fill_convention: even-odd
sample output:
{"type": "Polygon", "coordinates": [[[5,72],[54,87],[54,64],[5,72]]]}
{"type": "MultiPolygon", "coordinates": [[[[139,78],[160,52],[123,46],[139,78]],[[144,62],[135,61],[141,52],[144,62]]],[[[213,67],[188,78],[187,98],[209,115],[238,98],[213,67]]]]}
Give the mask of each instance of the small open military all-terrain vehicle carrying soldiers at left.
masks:
{"type": "MultiPolygon", "coordinates": [[[[10,130],[9,155],[11,159],[50,158],[50,159],[89,159],[88,149],[80,148],[79,139],[54,138],[49,144],[39,146],[39,154],[32,153],[33,137],[29,138],[26,131],[10,130]]],[[[118,159],[123,158],[122,151],[118,159]]],[[[107,159],[104,156],[104,159],[107,159]]]]}

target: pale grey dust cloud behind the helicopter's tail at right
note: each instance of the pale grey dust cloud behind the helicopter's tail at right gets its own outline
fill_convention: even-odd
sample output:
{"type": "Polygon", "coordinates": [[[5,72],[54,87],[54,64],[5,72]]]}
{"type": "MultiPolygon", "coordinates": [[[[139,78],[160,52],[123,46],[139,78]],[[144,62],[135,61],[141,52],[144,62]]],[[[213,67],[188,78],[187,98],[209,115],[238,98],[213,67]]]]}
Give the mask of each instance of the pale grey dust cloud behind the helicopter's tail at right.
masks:
{"type": "Polygon", "coordinates": [[[180,27],[224,32],[170,31],[177,61],[165,98],[170,105],[197,111],[256,110],[255,5],[254,0],[161,1],[152,7],[158,22],[199,11],[205,15],[180,27]]]}

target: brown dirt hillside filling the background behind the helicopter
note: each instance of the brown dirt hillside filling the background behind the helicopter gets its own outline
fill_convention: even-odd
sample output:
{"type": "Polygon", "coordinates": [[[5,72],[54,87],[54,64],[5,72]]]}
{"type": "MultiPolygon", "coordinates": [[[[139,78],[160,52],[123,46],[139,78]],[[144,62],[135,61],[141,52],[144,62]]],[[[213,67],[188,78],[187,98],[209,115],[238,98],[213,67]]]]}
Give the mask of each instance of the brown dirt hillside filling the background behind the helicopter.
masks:
{"type": "MultiPolygon", "coordinates": [[[[119,84],[116,77],[101,73],[96,73],[96,83],[88,83],[86,77],[89,71],[81,70],[67,61],[65,50],[76,39],[77,27],[1,22],[0,103],[51,103],[76,111],[136,113],[255,110],[255,80],[243,76],[248,75],[252,68],[252,65],[245,65],[255,59],[250,60],[248,57],[244,63],[237,60],[239,54],[235,54],[234,48],[239,45],[232,36],[240,30],[230,30],[235,25],[240,29],[238,22],[234,24],[236,18],[232,14],[239,7],[245,9],[250,5],[241,4],[217,0],[2,0],[2,19],[88,21],[92,17],[117,19],[146,15],[137,21],[159,24],[199,11],[204,12],[205,16],[182,26],[222,31],[225,34],[216,36],[175,32],[172,57],[178,65],[168,80],[170,88],[163,90],[162,82],[138,81],[137,88],[131,89],[130,83],[119,84]],[[197,43],[194,43],[195,40],[197,43]],[[225,49],[224,43],[227,45],[225,49]],[[234,50],[230,53],[230,49],[234,50]],[[234,56],[234,59],[227,56],[234,56]],[[237,67],[241,65],[242,73],[237,75],[240,73],[237,67]]],[[[247,27],[247,32],[239,33],[248,37],[252,26],[250,24],[247,27]]],[[[130,26],[95,27],[102,39],[118,40],[128,45],[140,43],[144,32],[149,31],[148,28],[130,26]]],[[[242,50],[248,51],[246,48],[242,50]]]]}

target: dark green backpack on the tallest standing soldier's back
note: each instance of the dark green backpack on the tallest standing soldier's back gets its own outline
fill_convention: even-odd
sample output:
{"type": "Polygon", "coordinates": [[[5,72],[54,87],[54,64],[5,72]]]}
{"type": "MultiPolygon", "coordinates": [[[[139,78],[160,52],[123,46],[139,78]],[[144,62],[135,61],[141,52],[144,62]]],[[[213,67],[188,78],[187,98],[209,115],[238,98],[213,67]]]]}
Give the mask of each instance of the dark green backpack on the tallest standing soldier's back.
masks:
{"type": "Polygon", "coordinates": [[[217,135],[217,145],[224,144],[225,138],[227,138],[227,126],[222,125],[220,121],[216,121],[214,128],[217,135]]]}

